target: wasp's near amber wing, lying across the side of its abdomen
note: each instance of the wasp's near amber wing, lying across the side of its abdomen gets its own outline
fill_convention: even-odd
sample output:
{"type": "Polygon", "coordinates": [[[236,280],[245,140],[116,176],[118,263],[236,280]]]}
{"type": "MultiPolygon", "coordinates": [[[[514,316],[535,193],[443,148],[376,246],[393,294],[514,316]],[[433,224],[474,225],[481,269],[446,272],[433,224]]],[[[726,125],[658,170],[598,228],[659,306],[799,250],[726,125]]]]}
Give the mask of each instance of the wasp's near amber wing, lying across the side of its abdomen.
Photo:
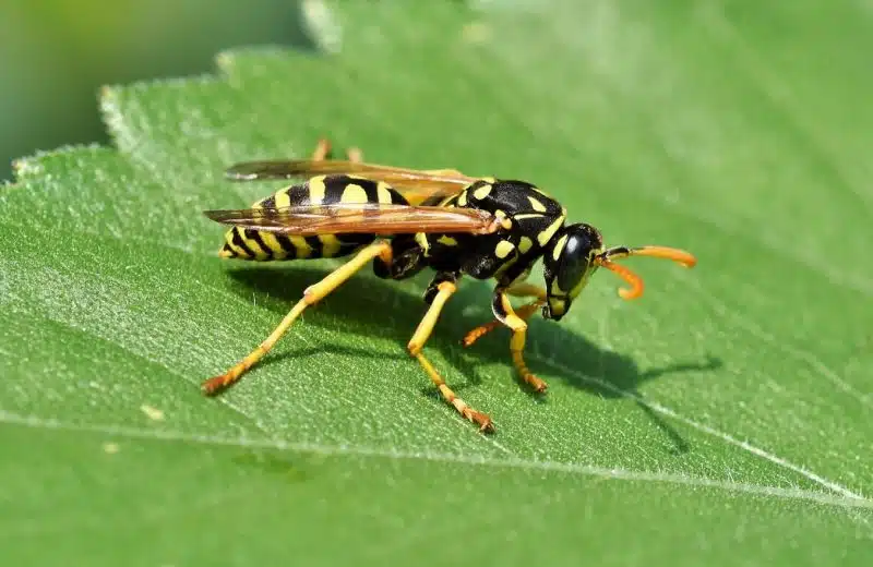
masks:
{"type": "Polygon", "coordinates": [[[224,225],[278,234],[370,233],[408,234],[415,232],[495,232],[494,215],[475,208],[409,206],[387,203],[335,203],[279,208],[205,210],[204,215],[224,225]]]}

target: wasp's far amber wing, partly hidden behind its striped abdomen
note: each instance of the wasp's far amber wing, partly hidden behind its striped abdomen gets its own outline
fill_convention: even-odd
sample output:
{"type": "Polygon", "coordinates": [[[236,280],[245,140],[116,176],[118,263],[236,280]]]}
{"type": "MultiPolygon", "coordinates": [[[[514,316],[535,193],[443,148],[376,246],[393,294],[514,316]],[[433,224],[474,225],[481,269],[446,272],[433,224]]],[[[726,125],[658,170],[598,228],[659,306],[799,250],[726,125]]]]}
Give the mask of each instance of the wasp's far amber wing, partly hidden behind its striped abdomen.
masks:
{"type": "Polygon", "coordinates": [[[384,181],[414,205],[431,198],[452,195],[476,181],[476,178],[453,169],[418,170],[339,159],[246,161],[237,164],[226,171],[227,178],[234,181],[291,179],[339,173],[384,181]]]}

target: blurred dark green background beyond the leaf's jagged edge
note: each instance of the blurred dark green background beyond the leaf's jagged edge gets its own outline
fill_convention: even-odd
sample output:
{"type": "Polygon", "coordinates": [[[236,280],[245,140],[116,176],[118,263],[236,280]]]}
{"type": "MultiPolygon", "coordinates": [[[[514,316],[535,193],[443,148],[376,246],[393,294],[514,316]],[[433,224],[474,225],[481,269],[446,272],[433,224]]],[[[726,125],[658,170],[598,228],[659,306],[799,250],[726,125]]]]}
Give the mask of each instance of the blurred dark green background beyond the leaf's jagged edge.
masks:
{"type": "Polygon", "coordinates": [[[214,71],[219,50],[307,48],[296,0],[3,0],[0,2],[0,180],[39,149],[109,138],[104,84],[214,71]]]}

